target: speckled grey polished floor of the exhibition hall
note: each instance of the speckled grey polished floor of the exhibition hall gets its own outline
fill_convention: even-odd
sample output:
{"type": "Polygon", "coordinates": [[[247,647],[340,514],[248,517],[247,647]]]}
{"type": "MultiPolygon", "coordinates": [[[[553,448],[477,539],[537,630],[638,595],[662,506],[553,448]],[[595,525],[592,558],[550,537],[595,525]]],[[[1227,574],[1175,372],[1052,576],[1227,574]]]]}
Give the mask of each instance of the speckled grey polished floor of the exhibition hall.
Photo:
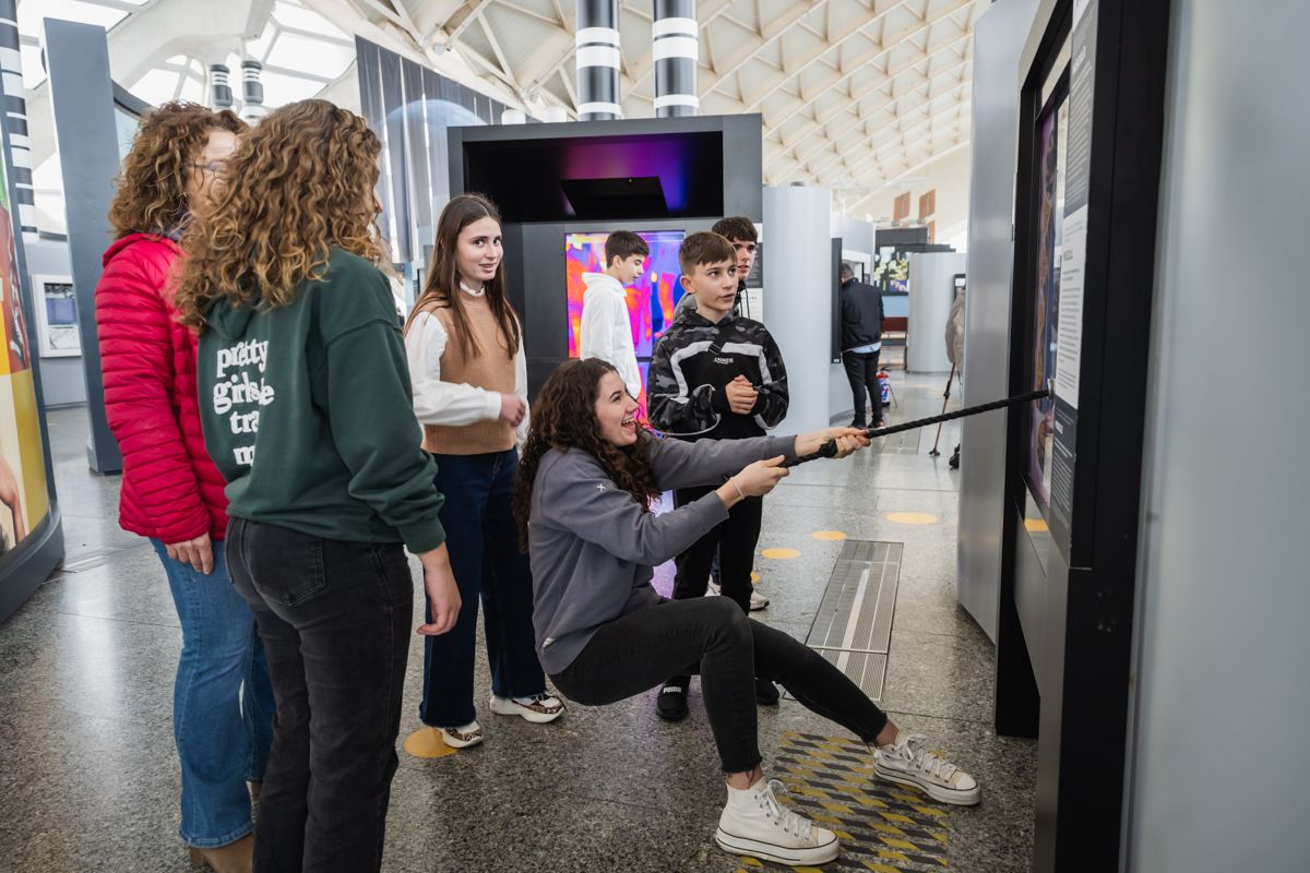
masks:
{"type": "MultiPolygon", "coordinates": [[[[942,381],[896,373],[891,420],[939,411],[942,381]]],[[[86,470],[85,411],[52,411],[48,423],[67,558],[0,624],[0,869],[187,870],[172,734],[181,632],[168,585],[149,544],[117,525],[118,479],[86,470]]],[[[896,450],[798,467],[765,500],[761,551],[796,554],[757,559],[772,605],[753,618],[802,640],[842,548],[836,534],[815,533],[903,543],[880,705],[982,787],[979,806],[938,814],[909,789],[848,780],[859,788],[848,785],[850,796],[829,797],[825,809],[845,805],[850,815],[832,815],[859,830],[825,869],[1018,873],[1031,864],[1036,745],[996,736],[994,649],[955,602],[958,472],[946,459],[958,433],[947,425],[938,458],[927,455],[926,429],[888,446],[896,450]],[[918,810],[903,815],[905,839],[888,836],[897,804],[918,810]],[[922,827],[910,823],[916,815],[922,827]]],[[[656,580],[667,592],[672,564],[656,580]]],[[[421,654],[415,636],[398,745],[419,726],[421,654]]],[[[401,750],[385,870],[744,866],[713,840],[724,789],[698,685],[692,716],[672,725],[655,716],[654,692],[605,708],[570,705],[541,726],[491,715],[485,652],[477,688],[481,747],[436,759],[401,750]]],[[[786,698],[761,709],[760,739],[765,767],[779,764],[770,775],[791,783],[807,810],[824,802],[812,785],[825,767],[858,776],[870,763],[841,728],[786,698]]]]}

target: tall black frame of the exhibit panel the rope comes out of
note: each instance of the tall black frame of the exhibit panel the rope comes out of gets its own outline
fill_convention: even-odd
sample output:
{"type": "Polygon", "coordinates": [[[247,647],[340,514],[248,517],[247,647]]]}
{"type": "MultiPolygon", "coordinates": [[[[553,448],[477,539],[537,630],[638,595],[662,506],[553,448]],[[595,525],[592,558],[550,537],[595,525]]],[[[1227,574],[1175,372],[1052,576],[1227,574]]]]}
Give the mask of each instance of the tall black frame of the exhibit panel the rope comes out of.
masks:
{"type": "MultiPolygon", "coordinates": [[[[1093,16],[1087,237],[1077,462],[1069,550],[1049,571],[1023,530],[1027,416],[1010,415],[997,631],[998,733],[1038,736],[1032,869],[1117,869],[1141,512],[1141,469],[1155,233],[1165,128],[1169,4],[1044,0],[1020,60],[1010,389],[1023,366],[1035,300],[1034,204],[1043,84],[1074,8],[1093,16]],[[1040,573],[1032,576],[1032,573],[1040,573]],[[1020,579],[1026,576],[1026,581],[1020,579]],[[1015,592],[1044,585],[1040,627],[1026,627],[1015,592]],[[1041,665],[1040,692],[1034,664],[1041,665]]],[[[1074,90],[1073,80],[1070,92],[1074,90]]],[[[1070,119],[1070,124],[1073,119],[1070,119]]]]}

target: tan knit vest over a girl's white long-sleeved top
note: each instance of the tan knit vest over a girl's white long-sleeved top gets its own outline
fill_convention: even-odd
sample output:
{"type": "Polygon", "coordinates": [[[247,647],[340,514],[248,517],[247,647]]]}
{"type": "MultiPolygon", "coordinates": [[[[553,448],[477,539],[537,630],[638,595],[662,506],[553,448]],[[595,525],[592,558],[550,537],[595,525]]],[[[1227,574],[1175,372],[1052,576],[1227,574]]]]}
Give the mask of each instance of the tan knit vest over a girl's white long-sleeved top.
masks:
{"type": "MultiPolygon", "coordinates": [[[[445,329],[445,351],[441,352],[441,381],[474,385],[489,391],[514,394],[514,357],[504,348],[504,339],[496,330],[495,315],[486,297],[465,294],[464,314],[478,338],[479,355],[472,360],[460,351],[451,309],[436,304],[424,312],[441,322],[445,329]]],[[[514,428],[500,419],[482,420],[461,427],[444,424],[423,425],[423,449],[434,454],[486,454],[514,448],[514,428]]]]}

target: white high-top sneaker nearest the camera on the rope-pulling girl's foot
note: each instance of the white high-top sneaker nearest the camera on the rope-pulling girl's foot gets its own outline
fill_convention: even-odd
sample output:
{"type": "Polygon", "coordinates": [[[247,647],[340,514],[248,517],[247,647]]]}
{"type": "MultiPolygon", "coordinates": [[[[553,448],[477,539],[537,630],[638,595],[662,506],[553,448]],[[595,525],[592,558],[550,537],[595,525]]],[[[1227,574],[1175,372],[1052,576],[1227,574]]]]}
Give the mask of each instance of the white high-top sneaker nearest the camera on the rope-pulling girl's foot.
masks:
{"type": "Polygon", "coordinates": [[[779,804],[773,794],[785,791],[777,779],[761,779],[751,788],[730,785],[714,842],[724,852],[778,864],[823,864],[837,857],[837,835],[779,804]]]}

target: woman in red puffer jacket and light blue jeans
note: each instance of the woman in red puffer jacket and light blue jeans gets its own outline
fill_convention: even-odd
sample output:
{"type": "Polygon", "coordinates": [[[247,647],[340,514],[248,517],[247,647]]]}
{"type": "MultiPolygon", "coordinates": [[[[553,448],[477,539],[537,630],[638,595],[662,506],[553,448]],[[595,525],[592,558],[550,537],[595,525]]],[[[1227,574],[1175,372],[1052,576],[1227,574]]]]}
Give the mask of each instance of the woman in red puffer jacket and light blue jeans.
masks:
{"type": "Polygon", "coordinates": [[[182,624],[173,687],[179,835],[191,861],[217,873],[252,868],[250,800],[263,780],[274,702],[254,615],[223,559],[224,482],[204,450],[196,339],[177,321],[173,274],[177,240],[221,185],[244,128],[231,111],[194,103],[165,103],[141,119],[96,287],[105,410],[123,453],[119,524],[149,538],[182,624]]]}

